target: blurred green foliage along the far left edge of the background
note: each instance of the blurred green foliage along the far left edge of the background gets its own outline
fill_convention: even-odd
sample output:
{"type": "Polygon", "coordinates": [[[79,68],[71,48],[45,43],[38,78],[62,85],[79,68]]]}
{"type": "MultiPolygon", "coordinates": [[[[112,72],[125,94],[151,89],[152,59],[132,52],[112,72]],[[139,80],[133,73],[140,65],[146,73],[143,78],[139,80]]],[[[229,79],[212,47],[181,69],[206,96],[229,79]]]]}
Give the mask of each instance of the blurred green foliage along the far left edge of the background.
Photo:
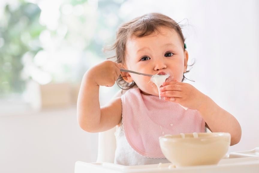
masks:
{"type": "Polygon", "coordinates": [[[5,6],[0,22],[0,94],[21,92],[25,81],[20,77],[22,56],[26,52],[35,55],[42,49],[40,32],[45,29],[39,23],[40,8],[32,3],[20,3],[12,10],[5,6]]]}

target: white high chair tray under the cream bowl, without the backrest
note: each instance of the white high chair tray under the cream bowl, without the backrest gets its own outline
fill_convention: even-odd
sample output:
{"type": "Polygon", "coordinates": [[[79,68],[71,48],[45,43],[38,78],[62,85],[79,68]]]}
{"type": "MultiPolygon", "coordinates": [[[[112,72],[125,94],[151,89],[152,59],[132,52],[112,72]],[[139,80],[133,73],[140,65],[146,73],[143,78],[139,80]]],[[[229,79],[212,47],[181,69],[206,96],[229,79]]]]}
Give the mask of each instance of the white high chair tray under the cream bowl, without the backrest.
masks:
{"type": "Polygon", "coordinates": [[[233,152],[229,157],[221,159],[217,165],[201,165],[179,168],[169,168],[171,163],[124,166],[114,163],[85,163],[77,161],[75,173],[259,173],[259,147],[254,150],[233,152]]]}

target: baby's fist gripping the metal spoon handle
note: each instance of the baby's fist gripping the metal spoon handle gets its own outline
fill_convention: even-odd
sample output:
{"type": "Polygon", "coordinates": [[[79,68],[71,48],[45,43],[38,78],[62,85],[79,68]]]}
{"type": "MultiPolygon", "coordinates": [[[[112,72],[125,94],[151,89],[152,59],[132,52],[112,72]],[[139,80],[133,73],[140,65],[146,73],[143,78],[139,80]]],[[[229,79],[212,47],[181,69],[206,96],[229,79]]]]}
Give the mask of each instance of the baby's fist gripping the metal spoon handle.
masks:
{"type": "Polygon", "coordinates": [[[97,85],[112,87],[120,76],[121,66],[111,60],[106,60],[88,71],[89,77],[97,85]]]}

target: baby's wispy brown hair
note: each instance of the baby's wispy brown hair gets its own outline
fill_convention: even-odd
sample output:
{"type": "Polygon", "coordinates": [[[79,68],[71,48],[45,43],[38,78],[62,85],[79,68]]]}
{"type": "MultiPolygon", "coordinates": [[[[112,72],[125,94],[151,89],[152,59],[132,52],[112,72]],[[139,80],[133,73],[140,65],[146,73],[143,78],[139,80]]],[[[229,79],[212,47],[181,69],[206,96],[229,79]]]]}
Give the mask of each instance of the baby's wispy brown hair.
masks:
{"type": "MultiPolygon", "coordinates": [[[[125,50],[126,50],[126,43],[128,38],[135,36],[145,37],[151,35],[154,32],[159,32],[159,27],[164,26],[171,29],[174,29],[180,36],[182,40],[183,49],[185,38],[183,37],[182,30],[178,23],[176,23],[173,19],[168,16],[159,13],[149,13],[145,14],[140,17],[136,17],[135,19],[124,23],[119,29],[116,34],[116,41],[108,50],[115,50],[116,55],[111,58],[116,58],[117,63],[124,64],[125,62],[125,50]]],[[[186,71],[186,73],[189,72],[186,71]]],[[[185,76],[183,74],[184,80],[185,76]]],[[[117,84],[121,89],[127,90],[134,86],[136,83],[133,81],[132,83],[127,83],[123,77],[120,75],[117,79],[117,84]]]]}

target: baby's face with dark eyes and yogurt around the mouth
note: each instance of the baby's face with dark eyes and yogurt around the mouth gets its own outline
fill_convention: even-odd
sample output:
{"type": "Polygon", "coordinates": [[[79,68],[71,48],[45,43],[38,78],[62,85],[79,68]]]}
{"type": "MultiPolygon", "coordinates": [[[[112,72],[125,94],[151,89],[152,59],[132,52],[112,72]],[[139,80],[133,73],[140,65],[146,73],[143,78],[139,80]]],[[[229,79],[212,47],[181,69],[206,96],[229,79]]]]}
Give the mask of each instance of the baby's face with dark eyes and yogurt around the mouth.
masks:
{"type": "MultiPolygon", "coordinates": [[[[181,81],[188,53],[174,29],[162,27],[159,31],[127,41],[124,68],[146,74],[168,73],[170,77],[166,81],[181,81]]],[[[158,96],[156,85],[149,82],[150,77],[131,73],[128,79],[135,81],[142,92],[158,96]]]]}

